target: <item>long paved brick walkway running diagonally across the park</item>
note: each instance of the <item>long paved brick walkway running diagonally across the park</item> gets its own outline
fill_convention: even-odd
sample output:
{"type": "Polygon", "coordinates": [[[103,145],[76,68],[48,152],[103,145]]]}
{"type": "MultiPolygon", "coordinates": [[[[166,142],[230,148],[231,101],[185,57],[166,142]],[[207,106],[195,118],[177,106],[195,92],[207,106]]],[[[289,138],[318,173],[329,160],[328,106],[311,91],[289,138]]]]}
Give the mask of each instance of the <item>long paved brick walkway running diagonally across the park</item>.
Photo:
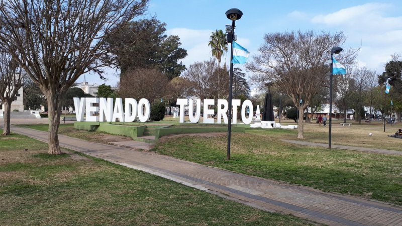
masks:
{"type": "MultiPolygon", "coordinates": [[[[12,126],[47,142],[47,132],[12,126]]],[[[59,135],[60,145],[267,211],[293,214],[329,225],[402,225],[402,208],[304,186],[246,176],[169,156],[87,142],[59,135]]]]}

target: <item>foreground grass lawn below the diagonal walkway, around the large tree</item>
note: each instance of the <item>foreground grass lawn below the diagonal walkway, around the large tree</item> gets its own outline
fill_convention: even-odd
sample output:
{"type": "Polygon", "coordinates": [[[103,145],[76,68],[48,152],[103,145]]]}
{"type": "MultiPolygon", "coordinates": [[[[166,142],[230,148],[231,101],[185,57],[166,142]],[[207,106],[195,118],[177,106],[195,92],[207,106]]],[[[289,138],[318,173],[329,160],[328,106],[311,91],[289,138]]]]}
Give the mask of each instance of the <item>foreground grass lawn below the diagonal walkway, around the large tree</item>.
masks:
{"type": "Polygon", "coordinates": [[[49,156],[21,135],[0,136],[0,147],[1,225],[310,224],[68,150],[49,156]]]}

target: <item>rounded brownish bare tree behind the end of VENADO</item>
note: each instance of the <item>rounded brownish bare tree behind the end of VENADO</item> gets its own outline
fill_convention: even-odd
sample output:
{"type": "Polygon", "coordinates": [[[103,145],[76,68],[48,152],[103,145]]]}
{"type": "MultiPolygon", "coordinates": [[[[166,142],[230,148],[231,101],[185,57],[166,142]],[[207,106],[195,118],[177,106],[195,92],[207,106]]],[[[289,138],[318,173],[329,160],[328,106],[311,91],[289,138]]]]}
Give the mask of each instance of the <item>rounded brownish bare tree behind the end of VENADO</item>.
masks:
{"type": "Polygon", "coordinates": [[[157,69],[128,70],[118,84],[120,97],[146,98],[151,105],[168,91],[169,79],[157,69]]]}

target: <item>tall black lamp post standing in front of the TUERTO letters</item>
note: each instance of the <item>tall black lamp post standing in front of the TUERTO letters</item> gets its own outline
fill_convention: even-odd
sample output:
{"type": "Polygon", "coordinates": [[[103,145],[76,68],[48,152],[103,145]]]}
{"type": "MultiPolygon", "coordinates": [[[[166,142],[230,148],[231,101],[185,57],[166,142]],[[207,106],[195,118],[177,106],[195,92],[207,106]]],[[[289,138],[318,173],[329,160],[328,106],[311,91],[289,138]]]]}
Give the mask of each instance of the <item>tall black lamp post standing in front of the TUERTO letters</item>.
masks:
{"type": "MultiPolygon", "coordinates": [[[[230,74],[229,74],[229,109],[228,109],[228,151],[227,158],[230,160],[230,136],[232,129],[232,86],[233,86],[233,40],[235,39],[235,21],[240,20],[243,16],[243,12],[239,9],[233,8],[226,11],[226,17],[232,21],[232,27],[226,26],[228,32],[226,41],[230,43],[230,74]]],[[[234,110],[234,109],[233,109],[234,110]]],[[[237,110],[237,109],[236,109],[237,110]]]]}

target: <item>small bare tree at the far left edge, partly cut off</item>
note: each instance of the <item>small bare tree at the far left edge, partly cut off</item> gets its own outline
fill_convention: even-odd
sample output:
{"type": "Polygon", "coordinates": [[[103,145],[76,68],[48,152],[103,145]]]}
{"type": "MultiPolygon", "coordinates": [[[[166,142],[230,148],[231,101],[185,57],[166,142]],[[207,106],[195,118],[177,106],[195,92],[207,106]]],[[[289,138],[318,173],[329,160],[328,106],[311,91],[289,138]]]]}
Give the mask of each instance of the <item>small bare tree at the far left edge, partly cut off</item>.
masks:
{"type": "Polygon", "coordinates": [[[0,100],[4,103],[3,135],[10,135],[11,103],[23,86],[21,67],[13,57],[0,49],[0,100]]]}

